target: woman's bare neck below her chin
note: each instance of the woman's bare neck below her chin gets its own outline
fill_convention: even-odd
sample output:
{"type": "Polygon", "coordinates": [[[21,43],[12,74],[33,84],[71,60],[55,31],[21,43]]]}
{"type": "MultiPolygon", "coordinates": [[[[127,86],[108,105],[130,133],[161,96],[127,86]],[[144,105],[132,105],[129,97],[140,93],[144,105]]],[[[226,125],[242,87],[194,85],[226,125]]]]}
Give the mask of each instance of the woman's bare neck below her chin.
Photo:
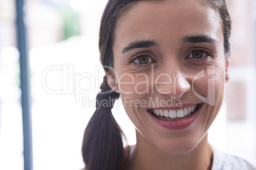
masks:
{"type": "Polygon", "coordinates": [[[155,170],[155,169],[211,169],[213,150],[208,143],[207,134],[194,150],[182,155],[170,155],[153,147],[136,131],[137,144],[131,153],[131,160],[127,169],[155,170]]]}

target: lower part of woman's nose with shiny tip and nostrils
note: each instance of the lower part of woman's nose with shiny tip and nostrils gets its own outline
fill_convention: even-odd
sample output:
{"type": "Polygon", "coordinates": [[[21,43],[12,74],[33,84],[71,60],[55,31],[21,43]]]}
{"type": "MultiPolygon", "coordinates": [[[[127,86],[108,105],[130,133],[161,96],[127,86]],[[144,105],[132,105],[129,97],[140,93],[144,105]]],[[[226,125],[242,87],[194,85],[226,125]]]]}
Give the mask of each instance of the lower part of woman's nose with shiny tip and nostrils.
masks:
{"type": "Polygon", "coordinates": [[[159,75],[155,83],[156,89],[160,94],[173,96],[179,99],[181,96],[190,90],[190,83],[185,75],[179,73],[159,75]]]}

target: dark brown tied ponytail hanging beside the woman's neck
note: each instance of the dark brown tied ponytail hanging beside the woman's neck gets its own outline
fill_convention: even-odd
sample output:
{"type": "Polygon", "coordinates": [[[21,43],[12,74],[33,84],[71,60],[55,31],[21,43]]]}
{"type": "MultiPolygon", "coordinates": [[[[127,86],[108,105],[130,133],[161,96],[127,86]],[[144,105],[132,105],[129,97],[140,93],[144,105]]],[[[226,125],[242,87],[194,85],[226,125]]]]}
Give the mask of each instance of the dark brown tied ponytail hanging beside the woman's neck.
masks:
{"type": "Polygon", "coordinates": [[[83,161],[86,170],[122,169],[125,161],[123,133],[111,112],[119,93],[111,91],[106,75],[100,88],[101,92],[96,98],[96,111],[83,135],[83,161]]]}

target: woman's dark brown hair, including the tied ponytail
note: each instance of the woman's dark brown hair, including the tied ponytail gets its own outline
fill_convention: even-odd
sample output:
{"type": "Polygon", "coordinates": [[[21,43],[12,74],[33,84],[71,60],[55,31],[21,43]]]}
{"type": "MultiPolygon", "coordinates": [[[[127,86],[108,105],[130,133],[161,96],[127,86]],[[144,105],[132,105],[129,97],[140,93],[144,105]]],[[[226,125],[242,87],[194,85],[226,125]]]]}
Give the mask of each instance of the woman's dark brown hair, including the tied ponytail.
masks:
{"type": "MultiPolygon", "coordinates": [[[[225,0],[204,0],[206,4],[215,10],[223,25],[224,53],[230,54],[229,37],[231,34],[231,18],[227,11],[225,0]]],[[[101,18],[99,33],[99,51],[103,66],[113,67],[113,39],[115,36],[115,25],[118,17],[127,10],[135,0],[110,0],[106,5],[101,18]]],[[[110,72],[109,69],[105,69],[110,72]]],[[[97,95],[97,101],[113,101],[119,94],[111,91],[106,81],[106,76],[101,84],[101,92],[97,95]],[[108,93],[104,93],[107,92],[108,93]]],[[[124,134],[118,126],[111,113],[113,102],[109,105],[96,106],[96,112],[92,115],[83,136],[82,155],[87,170],[118,170],[124,169],[127,162],[122,137],[124,134]]]]}

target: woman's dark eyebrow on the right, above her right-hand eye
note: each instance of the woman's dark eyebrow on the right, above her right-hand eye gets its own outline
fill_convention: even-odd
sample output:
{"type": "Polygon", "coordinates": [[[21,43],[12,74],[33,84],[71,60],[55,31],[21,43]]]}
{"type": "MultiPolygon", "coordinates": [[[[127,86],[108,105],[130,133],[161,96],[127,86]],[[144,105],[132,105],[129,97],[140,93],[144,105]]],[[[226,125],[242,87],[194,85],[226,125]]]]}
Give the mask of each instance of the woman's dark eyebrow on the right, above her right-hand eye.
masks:
{"type": "Polygon", "coordinates": [[[215,43],[218,44],[217,39],[213,39],[208,36],[188,36],[188,37],[183,37],[182,39],[183,43],[199,43],[199,42],[210,42],[210,43],[215,43]]]}

